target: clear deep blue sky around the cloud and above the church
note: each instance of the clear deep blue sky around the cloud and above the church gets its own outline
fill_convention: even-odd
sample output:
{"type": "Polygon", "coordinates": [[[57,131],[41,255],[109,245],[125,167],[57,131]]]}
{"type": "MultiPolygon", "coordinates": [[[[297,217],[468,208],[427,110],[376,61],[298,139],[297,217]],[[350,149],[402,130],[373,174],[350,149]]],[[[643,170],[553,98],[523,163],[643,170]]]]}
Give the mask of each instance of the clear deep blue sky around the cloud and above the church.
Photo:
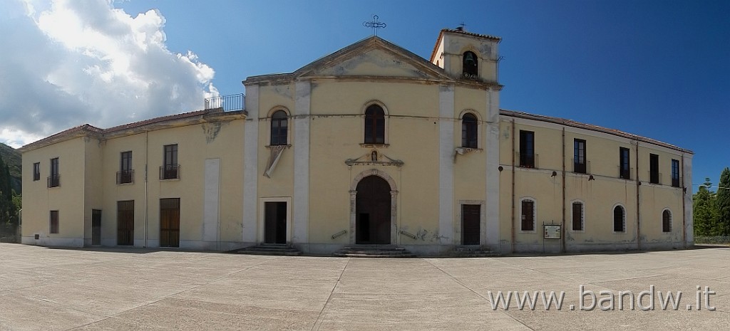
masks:
{"type": "MultiPolygon", "coordinates": [[[[37,22],[38,12],[54,8],[44,4],[48,0],[23,1],[34,4],[36,14],[30,16],[37,22]]],[[[291,72],[364,39],[372,31],[362,23],[373,14],[388,25],[379,31],[381,37],[424,58],[441,28],[463,22],[467,31],[502,37],[502,109],[565,117],[692,149],[695,184],[704,177],[717,184],[722,169],[730,166],[730,1],[452,1],[447,8],[446,2],[435,1],[83,0],[99,7],[77,10],[99,16],[90,23],[96,26],[99,20],[113,20],[104,16],[99,1],[133,18],[157,9],[147,17],[164,17],[156,27],[164,31],[161,43],[170,54],[158,63],[180,62],[177,55],[188,55],[170,70],[193,71],[197,80],[191,86],[199,85],[193,95],[200,98],[211,93],[210,84],[223,95],[243,93],[241,81],[248,76],[291,72]],[[206,66],[215,71],[212,78],[206,66]]],[[[23,23],[19,17],[14,26],[23,23]]],[[[103,61],[97,66],[104,71],[103,61]]],[[[163,75],[168,81],[189,78],[163,75]]],[[[151,94],[142,90],[135,98],[145,93],[151,94]]],[[[93,99],[79,95],[85,102],[93,99]]],[[[190,107],[178,112],[199,108],[190,102],[175,99],[172,104],[190,107]]],[[[0,102],[0,114],[8,111],[3,107],[0,102]]],[[[128,117],[99,112],[104,119],[99,125],[157,114],[135,107],[139,112],[128,117]]],[[[96,115],[85,114],[69,115],[62,128],[33,131],[28,125],[23,132],[44,136],[83,122],[94,125],[96,115]]],[[[0,124],[0,141],[12,142],[8,134],[15,131],[6,128],[3,136],[2,130],[0,124]]]]}

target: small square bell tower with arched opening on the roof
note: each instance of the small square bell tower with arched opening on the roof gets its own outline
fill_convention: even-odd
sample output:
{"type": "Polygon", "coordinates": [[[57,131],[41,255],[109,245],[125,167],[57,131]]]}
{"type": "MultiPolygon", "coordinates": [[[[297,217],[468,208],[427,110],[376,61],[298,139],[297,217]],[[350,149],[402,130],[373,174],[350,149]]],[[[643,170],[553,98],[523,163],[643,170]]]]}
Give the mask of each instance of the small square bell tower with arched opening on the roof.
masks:
{"type": "Polygon", "coordinates": [[[439,33],[431,63],[456,79],[497,83],[500,41],[498,36],[472,34],[463,27],[445,28],[439,33]]]}

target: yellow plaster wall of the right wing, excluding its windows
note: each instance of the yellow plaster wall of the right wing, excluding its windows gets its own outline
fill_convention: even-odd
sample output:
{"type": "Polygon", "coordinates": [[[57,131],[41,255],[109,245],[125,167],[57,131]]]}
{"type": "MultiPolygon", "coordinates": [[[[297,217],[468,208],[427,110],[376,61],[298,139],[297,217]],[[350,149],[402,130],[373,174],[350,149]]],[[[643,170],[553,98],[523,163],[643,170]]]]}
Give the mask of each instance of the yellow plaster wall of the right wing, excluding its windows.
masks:
{"type": "MultiPolygon", "coordinates": [[[[589,131],[582,128],[539,122],[522,118],[502,117],[500,128],[500,164],[505,168],[502,174],[501,235],[507,243],[512,241],[512,131],[515,132],[515,151],[519,152],[519,131],[534,132],[534,149],[537,155],[536,168],[520,168],[515,153],[514,222],[516,251],[560,249],[560,241],[545,241],[542,234],[543,222],[564,223],[566,249],[568,251],[591,249],[651,249],[681,247],[683,245],[683,190],[671,186],[671,161],[680,160],[681,152],[639,142],[639,180],[637,174],[636,141],[619,136],[589,131]],[[512,129],[512,120],[515,127],[512,129]],[[565,130],[565,154],[562,154],[563,130],[565,130]],[[587,174],[573,172],[573,141],[586,141],[587,174]],[[620,179],[619,148],[630,150],[631,179],[620,179]],[[650,184],[649,154],[660,158],[661,184],[650,184]],[[565,180],[562,179],[563,161],[565,180]],[[556,171],[556,176],[553,176],[556,171]],[[591,179],[591,177],[593,179],[591,179]],[[565,198],[563,199],[563,182],[565,198]],[[637,187],[639,203],[637,206],[637,187]],[[534,198],[537,202],[537,230],[531,233],[520,231],[520,200],[534,198]],[[572,202],[580,201],[584,208],[584,230],[572,230],[572,202]],[[616,233],[613,229],[613,209],[621,205],[626,211],[626,231],[616,233]],[[565,217],[563,216],[565,207],[565,217]],[[637,217],[637,208],[640,213],[637,217]],[[661,214],[664,209],[672,213],[672,231],[662,232],[661,214]],[[637,228],[637,218],[640,227],[637,228]],[[637,240],[641,238],[641,243],[637,240]]],[[[683,171],[680,169],[680,174],[683,171]]],[[[686,220],[684,221],[686,222],[686,220]]],[[[510,247],[510,250],[512,247],[510,247]]]]}

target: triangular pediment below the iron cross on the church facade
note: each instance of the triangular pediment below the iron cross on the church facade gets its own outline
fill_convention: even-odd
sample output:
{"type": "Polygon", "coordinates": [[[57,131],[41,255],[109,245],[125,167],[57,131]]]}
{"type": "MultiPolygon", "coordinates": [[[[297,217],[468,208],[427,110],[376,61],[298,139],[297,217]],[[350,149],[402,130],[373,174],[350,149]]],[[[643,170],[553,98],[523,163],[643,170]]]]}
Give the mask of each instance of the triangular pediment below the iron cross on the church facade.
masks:
{"type": "Polygon", "coordinates": [[[294,77],[393,77],[450,80],[443,69],[377,36],[320,58],[294,77]]]}

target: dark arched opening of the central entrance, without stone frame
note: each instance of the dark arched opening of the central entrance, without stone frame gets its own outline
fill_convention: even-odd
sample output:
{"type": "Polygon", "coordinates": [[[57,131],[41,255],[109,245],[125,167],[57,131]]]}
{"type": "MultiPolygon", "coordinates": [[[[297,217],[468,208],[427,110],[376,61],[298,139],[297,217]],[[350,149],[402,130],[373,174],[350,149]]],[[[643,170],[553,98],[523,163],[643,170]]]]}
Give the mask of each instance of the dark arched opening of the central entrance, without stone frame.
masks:
{"type": "Polygon", "coordinates": [[[391,185],[366,176],[357,187],[356,244],[391,244],[391,185]]]}

